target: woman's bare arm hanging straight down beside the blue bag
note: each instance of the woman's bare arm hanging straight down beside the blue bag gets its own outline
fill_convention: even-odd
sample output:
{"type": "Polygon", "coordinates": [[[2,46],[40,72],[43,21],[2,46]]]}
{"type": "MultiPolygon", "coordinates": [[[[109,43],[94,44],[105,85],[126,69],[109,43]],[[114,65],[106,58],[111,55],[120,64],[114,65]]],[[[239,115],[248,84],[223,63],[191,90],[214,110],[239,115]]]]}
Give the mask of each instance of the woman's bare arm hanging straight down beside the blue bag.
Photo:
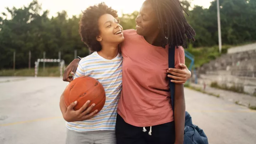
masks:
{"type": "Polygon", "coordinates": [[[185,127],[185,96],[183,84],[175,84],[174,94],[174,121],[175,144],[183,144],[185,127]]]}

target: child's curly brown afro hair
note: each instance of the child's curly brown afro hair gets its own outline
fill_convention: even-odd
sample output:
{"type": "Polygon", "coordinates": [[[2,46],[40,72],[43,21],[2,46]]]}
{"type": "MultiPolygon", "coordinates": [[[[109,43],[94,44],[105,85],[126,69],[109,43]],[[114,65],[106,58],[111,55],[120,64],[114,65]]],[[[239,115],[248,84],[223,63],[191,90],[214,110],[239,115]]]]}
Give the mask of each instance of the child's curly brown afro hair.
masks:
{"type": "Polygon", "coordinates": [[[108,7],[104,2],[90,6],[82,12],[82,17],[79,23],[79,34],[82,41],[92,52],[101,50],[101,44],[96,40],[96,37],[100,34],[98,19],[104,14],[110,14],[115,18],[118,17],[117,11],[108,7]]]}

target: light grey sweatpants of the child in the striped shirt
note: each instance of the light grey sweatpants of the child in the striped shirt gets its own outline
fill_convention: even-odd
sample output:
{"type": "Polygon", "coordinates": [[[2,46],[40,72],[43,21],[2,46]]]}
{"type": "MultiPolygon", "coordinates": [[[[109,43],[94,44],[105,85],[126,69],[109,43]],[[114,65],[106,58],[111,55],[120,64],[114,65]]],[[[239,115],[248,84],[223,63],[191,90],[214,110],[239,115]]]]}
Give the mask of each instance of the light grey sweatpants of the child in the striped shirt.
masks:
{"type": "Polygon", "coordinates": [[[114,130],[76,132],[67,129],[66,144],[116,144],[114,130]]]}

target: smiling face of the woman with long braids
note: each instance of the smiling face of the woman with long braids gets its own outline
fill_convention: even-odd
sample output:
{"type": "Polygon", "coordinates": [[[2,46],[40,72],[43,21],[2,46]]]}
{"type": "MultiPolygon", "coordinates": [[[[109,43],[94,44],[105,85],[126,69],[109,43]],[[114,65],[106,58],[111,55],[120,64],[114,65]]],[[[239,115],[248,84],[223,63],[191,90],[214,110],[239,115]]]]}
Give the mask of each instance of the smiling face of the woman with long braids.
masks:
{"type": "Polygon", "coordinates": [[[149,2],[145,1],[140,8],[136,24],[137,34],[140,36],[146,37],[159,32],[156,14],[149,2]]]}

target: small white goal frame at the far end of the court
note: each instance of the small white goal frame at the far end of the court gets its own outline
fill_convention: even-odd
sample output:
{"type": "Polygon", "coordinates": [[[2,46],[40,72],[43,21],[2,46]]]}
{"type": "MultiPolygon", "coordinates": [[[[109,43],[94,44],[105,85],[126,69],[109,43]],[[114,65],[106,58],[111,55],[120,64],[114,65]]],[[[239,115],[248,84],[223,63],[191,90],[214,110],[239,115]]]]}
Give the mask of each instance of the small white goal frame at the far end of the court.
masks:
{"type": "Polygon", "coordinates": [[[63,75],[63,70],[66,69],[65,67],[65,62],[62,59],[37,59],[37,61],[35,62],[35,78],[37,77],[38,74],[38,68],[39,68],[39,63],[43,62],[43,63],[59,63],[59,72],[60,72],[60,77],[62,77],[63,75]]]}

